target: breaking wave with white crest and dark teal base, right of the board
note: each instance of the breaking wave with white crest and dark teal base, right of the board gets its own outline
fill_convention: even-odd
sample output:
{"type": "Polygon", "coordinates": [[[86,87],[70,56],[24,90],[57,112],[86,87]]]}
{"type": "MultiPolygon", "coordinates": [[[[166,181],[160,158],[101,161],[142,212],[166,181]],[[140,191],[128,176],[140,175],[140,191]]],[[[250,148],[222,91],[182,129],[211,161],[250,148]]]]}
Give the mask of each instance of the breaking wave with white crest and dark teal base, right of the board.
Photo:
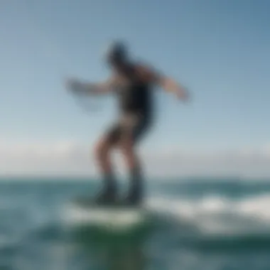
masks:
{"type": "Polygon", "coordinates": [[[171,226],[171,237],[178,244],[270,248],[270,194],[242,200],[158,197],[149,199],[147,205],[171,226]]]}

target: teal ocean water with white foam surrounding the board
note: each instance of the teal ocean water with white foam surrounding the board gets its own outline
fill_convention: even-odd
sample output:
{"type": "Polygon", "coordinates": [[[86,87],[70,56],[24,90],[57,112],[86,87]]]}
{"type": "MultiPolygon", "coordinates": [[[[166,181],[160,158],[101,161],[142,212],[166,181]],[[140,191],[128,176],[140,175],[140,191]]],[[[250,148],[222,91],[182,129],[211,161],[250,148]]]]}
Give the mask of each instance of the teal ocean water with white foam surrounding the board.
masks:
{"type": "Polygon", "coordinates": [[[270,269],[270,181],[153,180],[146,204],[162,226],[102,239],[67,229],[61,215],[97,188],[91,179],[2,179],[0,269],[270,269]]]}

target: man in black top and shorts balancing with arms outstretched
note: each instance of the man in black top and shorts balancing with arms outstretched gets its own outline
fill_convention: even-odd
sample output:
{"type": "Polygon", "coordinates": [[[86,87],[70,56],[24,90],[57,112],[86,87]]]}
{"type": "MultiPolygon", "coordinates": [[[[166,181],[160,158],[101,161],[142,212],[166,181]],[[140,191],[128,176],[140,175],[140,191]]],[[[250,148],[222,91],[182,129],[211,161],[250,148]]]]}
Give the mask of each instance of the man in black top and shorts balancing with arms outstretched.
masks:
{"type": "Polygon", "coordinates": [[[155,85],[172,92],[179,99],[187,99],[184,88],[171,78],[161,75],[141,63],[129,58],[124,43],[113,43],[107,51],[107,63],[112,68],[112,76],[107,82],[91,84],[69,80],[68,87],[74,91],[86,91],[91,95],[116,92],[119,97],[119,119],[104,133],[95,147],[95,156],[101,168],[104,187],[96,201],[112,204],[118,200],[110,153],[119,148],[130,172],[130,188],[124,202],[138,205],[143,199],[143,176],[141,161],[136,154],[136,146],[151,127],[153,119],[152,88],[155,85]]]}

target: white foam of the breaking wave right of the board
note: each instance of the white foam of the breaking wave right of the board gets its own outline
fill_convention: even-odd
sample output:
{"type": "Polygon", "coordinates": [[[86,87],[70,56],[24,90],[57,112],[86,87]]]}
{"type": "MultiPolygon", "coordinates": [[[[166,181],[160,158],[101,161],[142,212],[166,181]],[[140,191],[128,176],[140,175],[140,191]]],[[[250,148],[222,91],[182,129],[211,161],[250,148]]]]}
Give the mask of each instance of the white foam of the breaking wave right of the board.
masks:
{"type": "Polygon", "coordinates": [[[148,207],[207,234],[270,233],[270,194],[243,200],[151,198],[148,207]]]}

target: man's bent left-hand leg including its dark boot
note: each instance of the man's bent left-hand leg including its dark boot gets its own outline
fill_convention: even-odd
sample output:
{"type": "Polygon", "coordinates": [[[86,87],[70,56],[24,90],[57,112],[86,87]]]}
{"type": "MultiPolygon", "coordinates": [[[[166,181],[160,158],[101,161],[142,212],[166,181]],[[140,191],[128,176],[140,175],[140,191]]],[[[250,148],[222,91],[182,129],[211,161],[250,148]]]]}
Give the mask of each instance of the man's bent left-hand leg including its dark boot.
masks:
{"type": "Polygon", "coordinates": [[[114,202],[117,199],[117,183],[114,178],[110,154],[112,153],[118,136],[119,128],[118,126],[113,126],[107,134],[102,136],[102,139],[97,142],[95,147],[97,165],[103,178],[103,187],[96,199],[100,202],[114,202]]]}

